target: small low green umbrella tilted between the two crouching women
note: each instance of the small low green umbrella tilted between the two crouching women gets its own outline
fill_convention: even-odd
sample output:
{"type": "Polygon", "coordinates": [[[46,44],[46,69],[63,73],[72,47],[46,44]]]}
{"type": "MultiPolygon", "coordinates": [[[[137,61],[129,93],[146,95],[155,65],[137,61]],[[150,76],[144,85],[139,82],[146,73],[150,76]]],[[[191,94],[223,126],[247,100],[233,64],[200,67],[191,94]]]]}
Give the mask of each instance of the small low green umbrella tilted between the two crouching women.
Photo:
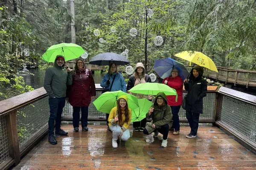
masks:
{"type": "Polygon", "coordinates": [[[144,119],[146,117],[146,113],[151,107],[151,102],[146,98],[138,99],[138,102],[139,108],[136,108],[131,112],[131,122],[139,122],[144,119]]]}

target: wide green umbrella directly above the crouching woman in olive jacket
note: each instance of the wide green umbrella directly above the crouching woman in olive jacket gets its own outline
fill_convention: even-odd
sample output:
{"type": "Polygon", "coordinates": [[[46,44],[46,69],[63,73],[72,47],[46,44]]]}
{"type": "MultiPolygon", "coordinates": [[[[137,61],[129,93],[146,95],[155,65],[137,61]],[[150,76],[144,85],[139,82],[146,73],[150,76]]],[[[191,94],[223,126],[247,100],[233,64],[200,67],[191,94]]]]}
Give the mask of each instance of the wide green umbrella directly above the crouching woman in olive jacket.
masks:
{"type": "Polygon", "coordinates": [[[159,92],[163,92],[165,95],[175,95],[176,102],[178,98],[177,92],[174,88],[170,88],[168,85],[156,82],[140,83],[139,85],[136,85],[133,88],[131,88],[129,92],[147,95],[157,95],[159,92]]]}

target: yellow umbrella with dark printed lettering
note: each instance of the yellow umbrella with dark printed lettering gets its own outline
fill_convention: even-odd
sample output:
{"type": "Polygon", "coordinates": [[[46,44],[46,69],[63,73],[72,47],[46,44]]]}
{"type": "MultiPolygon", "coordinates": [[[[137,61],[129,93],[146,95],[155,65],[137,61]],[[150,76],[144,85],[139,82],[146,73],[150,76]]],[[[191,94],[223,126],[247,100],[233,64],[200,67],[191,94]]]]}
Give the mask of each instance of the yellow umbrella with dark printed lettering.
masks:
{"type": "Polygon", "coordinates": [[[216,71],[218,73],[218,70],[216,68],[216,65],[205,54],[198,52],[198,51],[183,51],[178,54],[175,54],[176,57],[180,57],[182,59],[185,59],[189,62],[194,62],[197,65],[200,65],[202,67],[208,68],[212,71],[216,71]]]}

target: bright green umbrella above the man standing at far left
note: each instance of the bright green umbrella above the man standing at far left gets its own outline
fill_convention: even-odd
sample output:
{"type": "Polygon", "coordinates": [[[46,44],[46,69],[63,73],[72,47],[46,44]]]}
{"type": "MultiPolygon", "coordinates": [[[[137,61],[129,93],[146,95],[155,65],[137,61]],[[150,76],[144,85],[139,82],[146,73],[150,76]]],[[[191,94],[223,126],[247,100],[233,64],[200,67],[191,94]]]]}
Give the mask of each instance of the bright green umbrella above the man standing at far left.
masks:
{"type": "Polygon", "coordinates": [[[61,43],[52,45],[43,55],[43,59],[47,62],[55,62],[57,55],[64,56],[65,61],[79,58],[85,51],[81,46],[73,43],[61,43]]]}

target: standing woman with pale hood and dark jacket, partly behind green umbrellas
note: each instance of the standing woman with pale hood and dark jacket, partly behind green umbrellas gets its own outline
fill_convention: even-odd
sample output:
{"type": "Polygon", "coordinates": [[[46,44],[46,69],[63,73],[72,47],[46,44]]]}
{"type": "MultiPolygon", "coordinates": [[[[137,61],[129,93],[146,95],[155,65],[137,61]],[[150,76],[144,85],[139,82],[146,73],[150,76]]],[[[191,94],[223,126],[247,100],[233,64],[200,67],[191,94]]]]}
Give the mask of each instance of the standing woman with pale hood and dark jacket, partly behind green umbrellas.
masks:
{"type": "MultiPolygon", "coordinates": [[[[131,77],[129,78],[129,81],[127,83],[127,93],[131,88],[133,88],[135,85],[138,85],[140,83],[145,82],[151,82],[151,78],[148,76],[148,74],[145,73],[145,68],[142,62],[138,62],[135,66],[135,72],[131,77]]],[[[130,93],[131,94],[131,93],[130,93]]],[[[148,96],[145,94],[133,94],[138,99],[148,98],[152,99],[152,96],[148,96]]],[[[140,122],[133,122],[134,131],[138,132],[139,130],[143,132],[145,126],[146,126],[147,119],[142,119],[140,122]]]]}

